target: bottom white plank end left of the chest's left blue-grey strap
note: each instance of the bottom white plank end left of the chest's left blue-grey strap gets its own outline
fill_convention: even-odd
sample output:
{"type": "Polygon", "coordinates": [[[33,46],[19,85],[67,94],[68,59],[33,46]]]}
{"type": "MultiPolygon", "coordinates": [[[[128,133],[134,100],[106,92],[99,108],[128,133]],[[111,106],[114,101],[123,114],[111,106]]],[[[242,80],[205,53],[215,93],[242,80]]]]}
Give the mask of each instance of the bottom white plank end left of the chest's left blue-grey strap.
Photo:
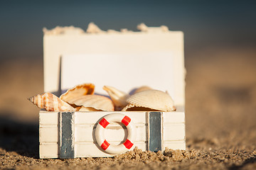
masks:
{"type": "Polygon", "coordinates": [[[39,145],[39,157],[43,158],[58,158],[57,142],[42,142],[39,145]]]}

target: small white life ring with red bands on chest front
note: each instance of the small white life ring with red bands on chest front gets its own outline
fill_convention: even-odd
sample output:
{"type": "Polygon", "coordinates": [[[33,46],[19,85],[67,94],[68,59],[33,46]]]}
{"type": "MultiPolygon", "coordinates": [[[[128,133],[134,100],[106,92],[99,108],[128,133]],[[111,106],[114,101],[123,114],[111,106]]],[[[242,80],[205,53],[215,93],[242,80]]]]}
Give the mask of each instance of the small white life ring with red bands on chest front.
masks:
{"type": "Polygon", "coordinates": [[[124,152],[127,152],[129,149],[132,148],[134,145],[135,140],[135,127],[132,123],[131,118],[129,118],[127,115],[124,115],[122,113],[111,113],[109,115],[105,115],[100,122],[97,124],[96,130],[95,130],[95,137],[97,144],[105,150],[105,152],[109,154],[121,154],[124,152]],[[104,130],[110,123],[117,122],[117,123],[123,123],[128,130],[128,136],[127,140],[123,142],[120,145],[110,145],[107,140],[105,140],[104,136],[104,130]]]}

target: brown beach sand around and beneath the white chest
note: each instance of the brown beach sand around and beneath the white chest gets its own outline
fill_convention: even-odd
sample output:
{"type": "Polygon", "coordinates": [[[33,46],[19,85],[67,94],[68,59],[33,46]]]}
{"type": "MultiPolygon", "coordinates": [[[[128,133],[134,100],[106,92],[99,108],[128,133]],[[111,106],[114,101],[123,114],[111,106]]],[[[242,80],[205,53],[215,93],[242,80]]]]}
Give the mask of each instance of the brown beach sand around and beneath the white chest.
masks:
{"type": "Polygon", "coordinates": [[[256,169],[256,50],[186,55],[186,151],[139,149],[113,158],[38,159],[43,61],[1,62],[1,169],[256,169]]]}

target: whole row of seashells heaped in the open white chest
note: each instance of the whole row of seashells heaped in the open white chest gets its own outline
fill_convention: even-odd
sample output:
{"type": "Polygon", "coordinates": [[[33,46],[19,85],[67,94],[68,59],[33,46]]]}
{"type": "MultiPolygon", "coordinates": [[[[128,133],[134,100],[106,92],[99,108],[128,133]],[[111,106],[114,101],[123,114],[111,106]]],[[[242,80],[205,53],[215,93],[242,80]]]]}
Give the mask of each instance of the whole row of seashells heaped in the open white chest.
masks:
{"type": "Polygon", "coordinates": [[[60,98],[45,93],[29,101],[46,111],[176,111],[168,93],[141,86],[134,94],[119,91],[112,86],[103,86],[110,98],[95,95],[94,84],[80,84],[62,94],[60,98]]]}

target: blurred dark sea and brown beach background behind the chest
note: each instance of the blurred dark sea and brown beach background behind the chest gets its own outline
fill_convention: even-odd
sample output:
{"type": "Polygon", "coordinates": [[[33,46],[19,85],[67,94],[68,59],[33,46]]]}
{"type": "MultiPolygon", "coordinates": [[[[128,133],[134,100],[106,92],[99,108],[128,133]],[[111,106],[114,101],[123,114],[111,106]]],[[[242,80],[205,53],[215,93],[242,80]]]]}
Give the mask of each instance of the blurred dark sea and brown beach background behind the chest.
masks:
{"type": "MultiPolygon", "coordinates": [[[[256,1],[249,0],[2,0],[1,136],[28,134],[31,125],[34,130],[29,134],[38,134],[39,109],[27,98],[43,92],[42,28],[86,30],[94,22],[102,30],[136,31],[139,23],[145,23],[184,33],[187,147],[233,142],[232,146],[255,148],[255,9],[256,1]],[[21,126],[28,131],[16,131],[21,126]]],[[[8,145],[10,141],[16,144],[14,138],[8,145]]]]}

